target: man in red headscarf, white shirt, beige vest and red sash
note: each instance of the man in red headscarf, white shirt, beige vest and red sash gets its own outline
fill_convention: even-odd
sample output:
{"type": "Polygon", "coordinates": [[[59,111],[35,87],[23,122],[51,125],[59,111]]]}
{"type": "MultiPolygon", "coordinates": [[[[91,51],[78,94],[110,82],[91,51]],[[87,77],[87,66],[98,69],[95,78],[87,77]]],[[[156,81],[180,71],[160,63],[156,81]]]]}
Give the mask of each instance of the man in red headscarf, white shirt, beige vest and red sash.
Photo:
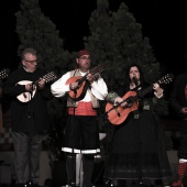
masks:
{"type": "Polygon", "coordinates": [[[70,187],[75,186],[75,155],[80,153],[82,154],[84,187],[91,187],[94,155],[100,152],[97,110],[99,108],[99,100],[105,99],[108,89],[105,80],[99,74],[94,75],[89,73],[91,65],[91,54],[89,51],[79,51],[76,64],[78,67],[63,75],[51,86],[51,90],[57,98],[68,94],[68,121],[65,132],[65,143],[62,147],[62,151],[66,152],[68,185],[70,187]],[[81,78],[75,79],[75,77],[85,76],[86,80],[82,85],[79,85],[81,78]],[[69,79],[73,79],[73,81],[70,82],[69,79]],[[86,86],[87,89],[85,92],[81,92],[81,96],[79,90],[85,90],[82,89],[82,86],[86,86]],[[72,92],[75,95],[72,96],[72,92]],[[80,97],[77,97],[79,95],[80,97]]]}

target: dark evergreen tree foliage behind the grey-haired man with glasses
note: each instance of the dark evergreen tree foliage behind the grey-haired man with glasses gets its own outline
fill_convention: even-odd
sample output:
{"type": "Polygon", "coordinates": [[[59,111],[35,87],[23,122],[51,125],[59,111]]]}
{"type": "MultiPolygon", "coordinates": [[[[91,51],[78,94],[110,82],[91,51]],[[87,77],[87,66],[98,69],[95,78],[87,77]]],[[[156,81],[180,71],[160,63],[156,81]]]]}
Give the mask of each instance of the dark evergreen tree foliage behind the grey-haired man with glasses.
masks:
{"type": "Polygon", "coordinates": [[[40,54],[40,65],[57,75],[67,69],[69,53],[64,51],[63,40],[56,25],[41,11],[38,0],[21,0],[15,13],[16,33],[20,38],[18,54],[23,48],[33,47],[40,54]]]}

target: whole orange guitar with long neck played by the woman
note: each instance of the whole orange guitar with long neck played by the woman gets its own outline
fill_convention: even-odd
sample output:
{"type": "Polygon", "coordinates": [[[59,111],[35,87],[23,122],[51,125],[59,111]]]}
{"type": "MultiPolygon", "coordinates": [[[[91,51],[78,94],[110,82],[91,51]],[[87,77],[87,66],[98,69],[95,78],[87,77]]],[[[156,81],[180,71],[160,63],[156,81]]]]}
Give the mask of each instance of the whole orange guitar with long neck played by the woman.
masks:
{"type": "MultiPolygon", "coordinates": [[[[174,76],[172,74],[165,75],[163,78],[157,80],[155,84],[168,84],[173,80],[174,76]]],[[[154,85],[154,84],[153,84],[154,85]]],[[[108,102],[106,105],[106,113],[108,114],[108,120],[114,124],[121,124],[129,116],[130,112],[136,110],[139,108],[139,99],[143,98],[146,94],[153,90],[153,85],[150,87],[141,90],[139,96],[136,91],[128,91],[123,97],[123,101],[125,102],[124,107],[121,107],[121,103],[113,106],[112,103],[108,102]]]]}

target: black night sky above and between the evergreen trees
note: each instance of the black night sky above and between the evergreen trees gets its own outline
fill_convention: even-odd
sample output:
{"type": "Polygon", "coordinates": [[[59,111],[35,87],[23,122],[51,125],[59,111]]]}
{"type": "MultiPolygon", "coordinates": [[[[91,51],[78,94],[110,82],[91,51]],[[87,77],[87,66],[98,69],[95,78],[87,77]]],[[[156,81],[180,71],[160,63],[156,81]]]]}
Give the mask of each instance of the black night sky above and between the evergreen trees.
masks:
{"type": "MultiPolygon", "coordinates": [[[[117,11],[122,0],[109,0],[117,11]]],[[[153,52],[165,72],[175,75],[186,70],[187,11],[183,0],[123,0],[130,12],[142,24],[143,36],[150,38],[153,52]]],[[[97,0],[40,0],[44,15],[48,16],[64,40],[65,50],[78,51],[82,37],[89,35],[88,20],[97,0]]],[[[19,38],[15,15],[20,0],[1,0],[0,6],[0,68],[16,68],[19,38]]]]}

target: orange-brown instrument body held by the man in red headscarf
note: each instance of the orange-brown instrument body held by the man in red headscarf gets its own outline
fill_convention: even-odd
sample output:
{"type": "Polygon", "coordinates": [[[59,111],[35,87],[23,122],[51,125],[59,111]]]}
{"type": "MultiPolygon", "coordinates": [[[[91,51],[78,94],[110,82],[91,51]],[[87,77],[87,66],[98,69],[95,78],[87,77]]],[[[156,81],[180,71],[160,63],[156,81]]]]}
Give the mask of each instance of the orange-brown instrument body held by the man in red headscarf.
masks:
{"type": "MultiPolygon", "coordinates": [[[[81,76],[70,77],[69,79],[67,79],[66,85],[70,85],[72,82],[78,81],[81,78],[82,78],[81,76]]],[[[80,87],[78,89],[76,89],[76,91],[70,90],[68,92],[69,97],[78,100],[81,97],[81,95],[85,92],[84,91],[85,85],[86,85],[86,81],[82,81],[82,84],[80,85],[80,87]]]]}

